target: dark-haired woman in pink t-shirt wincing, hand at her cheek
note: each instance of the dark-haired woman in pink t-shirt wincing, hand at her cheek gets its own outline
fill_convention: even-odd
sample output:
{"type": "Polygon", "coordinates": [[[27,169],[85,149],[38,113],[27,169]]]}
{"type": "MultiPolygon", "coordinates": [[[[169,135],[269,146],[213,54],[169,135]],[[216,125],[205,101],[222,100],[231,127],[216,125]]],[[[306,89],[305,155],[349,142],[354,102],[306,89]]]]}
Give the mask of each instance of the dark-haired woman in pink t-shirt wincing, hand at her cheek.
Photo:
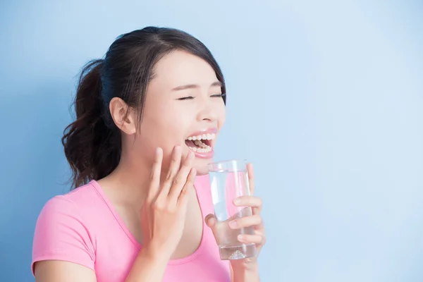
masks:
{"type": "MultiPolygon", "coordinates": [[[[257,258],[222,261],[212,232],[207,164],[225,104],[214,57],[180,30],[135,30],[89,63],[62,139],[75,189],[39,214],[36,281],[259,281],[257,258]]],[[[240,200],[254,214],[231,226],[255,226],[239,240],[260,250],[261,200],[240,200]]]]}

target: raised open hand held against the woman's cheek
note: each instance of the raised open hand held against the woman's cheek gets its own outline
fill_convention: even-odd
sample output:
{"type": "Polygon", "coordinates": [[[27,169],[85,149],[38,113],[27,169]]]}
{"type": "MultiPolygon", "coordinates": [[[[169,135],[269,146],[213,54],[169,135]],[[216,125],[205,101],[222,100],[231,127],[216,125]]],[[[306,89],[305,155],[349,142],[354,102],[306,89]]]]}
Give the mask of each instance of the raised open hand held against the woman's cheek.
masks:
{"type": "Polygon", "coordinates": [[[181,164],[181,148],[173,149],[172,160],[164,183],[160,183],[163,151],[157,149],[152,166],[149,192],[141,210],[143,245],[154,255],[170,259],[185,226],[188,192],[193,188],[194,154],[189,152],[181,164]]]}

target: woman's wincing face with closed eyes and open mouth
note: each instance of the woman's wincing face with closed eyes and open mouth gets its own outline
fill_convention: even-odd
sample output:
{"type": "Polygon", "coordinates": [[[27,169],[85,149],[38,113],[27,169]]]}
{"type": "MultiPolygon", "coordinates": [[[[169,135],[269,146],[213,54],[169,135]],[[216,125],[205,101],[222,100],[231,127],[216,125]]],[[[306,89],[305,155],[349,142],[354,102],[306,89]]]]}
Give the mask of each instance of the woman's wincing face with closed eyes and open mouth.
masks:
{"type": "Polygon", "coordinates": [[[164,56],[147,87],[133,155],[152,161],[155,149],[161,147],[166,169],[173,147],[180,145],[183,157],[195,152],[197,174],[206,174],[226,118],[221,94],[221,83],[206,61],[185,51],[164,56]]]}

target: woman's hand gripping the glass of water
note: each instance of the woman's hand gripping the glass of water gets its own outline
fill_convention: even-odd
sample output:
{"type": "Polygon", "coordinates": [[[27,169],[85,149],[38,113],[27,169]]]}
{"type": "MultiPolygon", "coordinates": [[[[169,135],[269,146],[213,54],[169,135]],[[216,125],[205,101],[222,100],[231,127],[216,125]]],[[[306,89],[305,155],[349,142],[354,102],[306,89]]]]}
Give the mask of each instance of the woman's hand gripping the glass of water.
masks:
{"type": "MultiPolygon", "coordinates": [[[[266,243],[266,235],[264,232],[264,223],[262,220],[262,216],[260,215],[262,212],[262,199],[259,197],[254,196],[255,191],[255,182],[254,182],[254,172],[252,169],[252,164],[247,165],[247,172],[248,172],[248,180],[250,183],[250,194],[251,196],[242,196],[238,197],[233,201],[235,206],[239,207],[251,207],[252,208],[252,216],[245,216],[239,219],[235,219],[233,221],[229,221],[229,226],[233,229],[245,228],[252,226],[254,228],[255,233],[253,235],[238,235],[238,240],[241,243],[251,244],[255,243],[257,247],[257,256],[256,257],[248,257],[246,259],[235,259],[231,260],[231,266],[233,271],[236,272],[239,269],[240,271],[245,271],[245,269],[257,269],[257,257],[259,252],[262,250],[262,247],[266,243]]],[[[214,230],[214,226],[216,224],[216,218],[213,214],[209,214],[206,217],[207,226],[214,230]]]]}

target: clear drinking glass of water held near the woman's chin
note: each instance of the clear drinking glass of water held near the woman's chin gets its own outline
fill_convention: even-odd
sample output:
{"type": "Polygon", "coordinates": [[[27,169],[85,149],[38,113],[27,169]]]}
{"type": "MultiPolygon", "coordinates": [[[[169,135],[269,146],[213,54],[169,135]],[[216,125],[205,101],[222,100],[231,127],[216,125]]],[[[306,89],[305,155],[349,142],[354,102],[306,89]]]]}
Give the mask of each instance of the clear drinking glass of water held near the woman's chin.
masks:
{"type": "Polygon", "coordinates": [[[232,229],[228,223],[233,219],[251,216],[251,207],[233,204],[236,197],[250,195],[247,161],[218,161],[209,164],[214,215],[216,216],[216,240],[221,259],[245,259],[255,257],[255,244],[244,244],[238,240],[240,234],[254,234],[253,227],[232,229]]]}

